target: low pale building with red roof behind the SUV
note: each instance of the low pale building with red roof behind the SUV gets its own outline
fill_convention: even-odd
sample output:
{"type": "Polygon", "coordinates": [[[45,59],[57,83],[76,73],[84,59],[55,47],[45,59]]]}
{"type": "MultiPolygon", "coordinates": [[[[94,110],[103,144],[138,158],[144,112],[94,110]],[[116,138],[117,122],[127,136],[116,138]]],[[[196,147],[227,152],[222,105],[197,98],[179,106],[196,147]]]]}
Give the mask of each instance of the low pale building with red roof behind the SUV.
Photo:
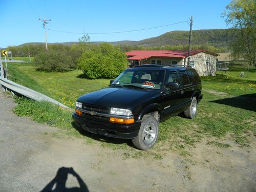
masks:
{"type": "Polygon", "coordinates": [[[216,75],[216,61],[218,54],[204,50],[191,50],[188,63],[188,51],[134,50],[125,53],[130,66],[155,64],[165,66],[190,66],[195,68],[200,76],[216,75]]]}

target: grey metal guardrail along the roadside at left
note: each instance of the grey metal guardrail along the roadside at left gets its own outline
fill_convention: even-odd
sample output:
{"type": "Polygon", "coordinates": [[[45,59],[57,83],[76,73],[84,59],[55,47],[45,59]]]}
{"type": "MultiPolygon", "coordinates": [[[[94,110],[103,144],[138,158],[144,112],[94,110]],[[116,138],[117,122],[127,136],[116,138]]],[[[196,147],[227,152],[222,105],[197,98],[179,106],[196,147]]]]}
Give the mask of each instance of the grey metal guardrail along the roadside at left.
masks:
{"type": "Polygon", "coordinates": [[[2,84],[2,87],[5,89],[5,90],[9,90],[11,92],[14,92],[14,93],[18,93],[19,95],[23,95],[25,97],[28,97],[30,99],[33,99],[35,101],[49,101],[53,104],[57,104],[59,105],[61,108],[66,108],[66,109],[70,109],[68,106],[44,95],[44,94],[41,94],[37,91],[34,91],[32,89],[29,89],[25,86],[22,86],[18,83],[15,83],[11,80],[8,80],[6,77],[4,77],[4,68],[3,68],[3,65],[2,65],[2,62],[0,60],[0,84],[2,84]]]}

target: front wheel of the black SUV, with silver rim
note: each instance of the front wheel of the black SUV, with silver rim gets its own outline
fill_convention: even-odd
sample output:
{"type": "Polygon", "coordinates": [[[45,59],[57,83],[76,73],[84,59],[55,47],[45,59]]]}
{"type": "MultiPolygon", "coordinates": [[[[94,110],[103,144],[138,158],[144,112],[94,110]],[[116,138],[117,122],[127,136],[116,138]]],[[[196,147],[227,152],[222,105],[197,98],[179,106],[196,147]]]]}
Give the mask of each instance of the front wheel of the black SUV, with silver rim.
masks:
{"type": "Polygon", "coordinates": [[[144,115],[138,136],[132,142],[139,150],[148,150],[155,145],[158,133],[159,127],[157,120],[152,115],[144,115]]]}

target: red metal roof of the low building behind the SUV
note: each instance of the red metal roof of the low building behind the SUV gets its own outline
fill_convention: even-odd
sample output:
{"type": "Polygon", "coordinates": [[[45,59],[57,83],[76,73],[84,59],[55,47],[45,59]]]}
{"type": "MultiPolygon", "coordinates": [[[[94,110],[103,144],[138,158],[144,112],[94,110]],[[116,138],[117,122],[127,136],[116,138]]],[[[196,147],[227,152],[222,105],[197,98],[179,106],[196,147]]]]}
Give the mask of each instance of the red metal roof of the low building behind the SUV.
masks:
{"type": "MultiPolygon", "coordinates": [[[[204,50],[191,50],[190,55],[195,55],[198,53],[208,53],[211,55],[217,56],[218,54],[212,53],[209,51],[204,51],[204,50]]],[[[178,50],[157,50],[157,51],[145,51],[145,50],[134,50],[134,51],[129,51],[125,53],[128,56],[128,60],[141,60],[145,58],[150,58],[150,57],[175,57],[175,58],[185,58],[188,55],[188,51],[178,51],[178,50]]]]}

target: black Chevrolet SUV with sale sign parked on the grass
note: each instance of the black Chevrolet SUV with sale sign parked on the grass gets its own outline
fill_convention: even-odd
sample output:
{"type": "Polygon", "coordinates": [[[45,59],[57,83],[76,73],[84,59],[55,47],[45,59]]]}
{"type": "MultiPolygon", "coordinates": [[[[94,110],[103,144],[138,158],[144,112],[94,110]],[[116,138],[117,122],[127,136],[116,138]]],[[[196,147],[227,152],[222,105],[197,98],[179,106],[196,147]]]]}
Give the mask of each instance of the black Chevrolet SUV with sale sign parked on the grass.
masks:
{"type": "Polygon", "coordinates": [[[187,118],[196,116],[201,90],[192,68],[136,66],[111,80],[109,88],[79,97],[72,117],[83,130],[132,139],[147,150],[156,143],[160,121],[183,112],[187,118]]]}

